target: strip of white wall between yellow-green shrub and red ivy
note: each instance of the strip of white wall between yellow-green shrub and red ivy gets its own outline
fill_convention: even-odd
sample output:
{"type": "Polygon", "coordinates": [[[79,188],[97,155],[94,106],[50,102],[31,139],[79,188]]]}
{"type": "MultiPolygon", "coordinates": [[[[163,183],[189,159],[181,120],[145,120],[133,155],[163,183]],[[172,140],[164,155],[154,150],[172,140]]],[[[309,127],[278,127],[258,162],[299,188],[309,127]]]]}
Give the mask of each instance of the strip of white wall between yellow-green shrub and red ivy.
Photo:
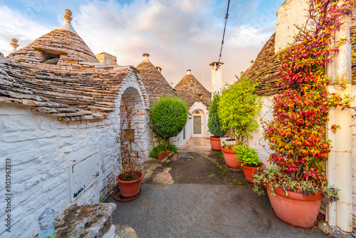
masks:
{"type": "Polygon", "coordinates": [[[265,165],[269,165],[268,157],[271,154],[272,150],[270,150],[268,146],[268,141],[263,140],[263,127],[261,125],[260,119],[264,121],[271,121],[273,119],[273,114],[272,114],[272,106],[273,106],[273,96],[263,96],[262,100],[262,108],[261,108],[261,113],[259,114],[260,116],[258,117],[258,130],[254,133],[252,133],[252,137],[250,140],[248,140],[248,146],[250,148],[256,149],[257,154],[259,159],[263,162],[265,165]],[[264,146],[263,146],[264,145],[264,146]]]}

